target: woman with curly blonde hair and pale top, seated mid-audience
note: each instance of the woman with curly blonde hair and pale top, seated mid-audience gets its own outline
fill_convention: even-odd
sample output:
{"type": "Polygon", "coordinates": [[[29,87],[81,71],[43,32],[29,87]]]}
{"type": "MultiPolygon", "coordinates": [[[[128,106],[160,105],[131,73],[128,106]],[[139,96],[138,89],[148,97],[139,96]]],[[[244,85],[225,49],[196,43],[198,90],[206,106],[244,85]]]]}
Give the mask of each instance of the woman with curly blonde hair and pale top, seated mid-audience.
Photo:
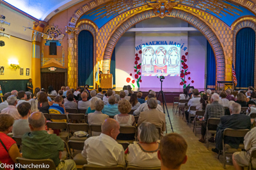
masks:
{"type": "Polygon", "coordinates": [[[114,119],[119,123],[120,126],[131,126],[135,123],[135,118],[133,115],[128,113],[131,111],[131,103],[127,100],[122,100],[118,102],[118,111],[121,114],[115,115],[114,119]]]}

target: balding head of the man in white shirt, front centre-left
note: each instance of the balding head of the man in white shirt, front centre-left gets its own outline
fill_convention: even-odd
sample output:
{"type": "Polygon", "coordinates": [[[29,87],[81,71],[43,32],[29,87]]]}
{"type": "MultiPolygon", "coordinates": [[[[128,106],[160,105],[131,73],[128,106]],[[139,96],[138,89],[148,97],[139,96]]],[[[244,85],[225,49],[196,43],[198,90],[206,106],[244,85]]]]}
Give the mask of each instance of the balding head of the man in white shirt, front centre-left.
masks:
{"type": "Polygon", "coordinates": [[[120,133],[119,129],[120,129],[120,125],[113,118],[107,118],[101,125],[102,134],[106,134],[113,139],[116,139],[116,137],[120,133]]]}

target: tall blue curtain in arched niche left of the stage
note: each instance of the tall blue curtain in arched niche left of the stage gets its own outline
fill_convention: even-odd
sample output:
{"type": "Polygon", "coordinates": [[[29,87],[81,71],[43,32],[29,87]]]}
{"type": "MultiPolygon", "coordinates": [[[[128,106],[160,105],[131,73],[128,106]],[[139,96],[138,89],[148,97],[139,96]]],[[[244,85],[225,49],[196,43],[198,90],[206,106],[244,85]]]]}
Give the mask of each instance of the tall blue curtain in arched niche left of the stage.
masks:
{"type": "Polygon", "coordinates": [[[93,36],[83,30],[78,35],[78,85],[93,86],[93,36]]]}

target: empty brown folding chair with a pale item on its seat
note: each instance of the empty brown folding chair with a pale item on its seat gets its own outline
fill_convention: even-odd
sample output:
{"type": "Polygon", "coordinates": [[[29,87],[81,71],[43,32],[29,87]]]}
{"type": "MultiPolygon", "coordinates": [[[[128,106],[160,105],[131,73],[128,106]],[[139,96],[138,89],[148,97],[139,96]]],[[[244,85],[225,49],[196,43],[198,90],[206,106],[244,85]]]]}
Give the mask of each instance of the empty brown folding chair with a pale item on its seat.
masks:
{"type": "Polygon", "coordinates": [[[86,139],[88,139],[88,136],[84,136],[84,137],[74,136],[74,132],[84,131],[89,134],[90,126],[88,124],[68,124],[68,131],[72,135],[71,137],[69,137],[70,140],[85,141],[86,139]]]}

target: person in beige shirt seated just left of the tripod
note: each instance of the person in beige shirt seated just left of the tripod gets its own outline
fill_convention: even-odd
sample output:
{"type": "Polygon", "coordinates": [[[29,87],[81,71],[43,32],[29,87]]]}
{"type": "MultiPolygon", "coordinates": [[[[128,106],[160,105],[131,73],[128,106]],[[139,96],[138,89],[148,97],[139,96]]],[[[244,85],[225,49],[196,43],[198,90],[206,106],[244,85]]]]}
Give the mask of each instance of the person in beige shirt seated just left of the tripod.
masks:
{"type": "Polygon", "coordinates": [[[140,113],[140,117],[138,119],[138,125],[143,122],[150,122],[156,127],[160,127],[162,132],[165,131],[165,114],[161,111],[158,111],[157,108],[157,100],[153,97],[147,100],[149,110],[143,111],[140,113]]]}

